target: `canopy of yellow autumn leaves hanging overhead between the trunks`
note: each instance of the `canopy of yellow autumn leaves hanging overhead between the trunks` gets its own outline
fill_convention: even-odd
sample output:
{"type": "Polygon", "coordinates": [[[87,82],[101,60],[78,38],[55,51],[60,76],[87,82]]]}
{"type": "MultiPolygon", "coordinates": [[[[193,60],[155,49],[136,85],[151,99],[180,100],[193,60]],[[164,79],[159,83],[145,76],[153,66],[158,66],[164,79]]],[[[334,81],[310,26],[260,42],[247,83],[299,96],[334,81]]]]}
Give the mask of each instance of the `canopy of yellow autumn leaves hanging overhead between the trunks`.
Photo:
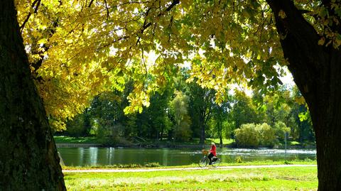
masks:
{"type": "MultiPolygon", "coordinates": [[[[296,3],[312,7],[308,1],[296,3]]],[[[18,22],[28,18],[24,45],[46,111],[60,129],[95,95],[122,91],[127,79],[134,81],[134,90],[124,111],[141,111],[149,94],[171,81],[185,61],[190,80],[217,90],[218,102],[228,84],[274,75],[274,65],[286,65],[273,13],[263,0],[41,0],[38,8],[32,5],[32,0],[16,1],[18,22]]],[[[325,36],[318,43],[341,43],[337,33],[325,36]]]]}

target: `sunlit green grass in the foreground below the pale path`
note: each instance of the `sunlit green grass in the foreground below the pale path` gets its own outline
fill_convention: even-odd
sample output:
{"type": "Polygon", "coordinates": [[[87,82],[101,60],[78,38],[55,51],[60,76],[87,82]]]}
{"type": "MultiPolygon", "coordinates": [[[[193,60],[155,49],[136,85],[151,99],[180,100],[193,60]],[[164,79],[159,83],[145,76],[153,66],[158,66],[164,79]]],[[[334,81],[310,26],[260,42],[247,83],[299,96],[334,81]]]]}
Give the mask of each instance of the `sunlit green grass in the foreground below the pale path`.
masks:
{"type": "Polygon", "coordinates": [[[67,190],[317,190],[316,167],[65,173],[67,190]]]}

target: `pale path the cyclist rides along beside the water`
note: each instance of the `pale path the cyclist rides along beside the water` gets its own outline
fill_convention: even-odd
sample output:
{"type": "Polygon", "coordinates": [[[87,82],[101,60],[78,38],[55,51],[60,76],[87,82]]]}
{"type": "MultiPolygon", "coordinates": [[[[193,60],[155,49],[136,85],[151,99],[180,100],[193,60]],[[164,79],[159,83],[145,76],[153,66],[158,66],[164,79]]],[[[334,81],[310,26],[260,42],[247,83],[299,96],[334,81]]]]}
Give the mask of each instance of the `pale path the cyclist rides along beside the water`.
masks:
{"type": "MultiPolygon", "coordinates": [[[[240,165],[240,166],[220,166],[217,168],[206,167],[204,169],[236,169],[236,168],[286,168],[286,167],[314,167],[316,165],[240,165]]],[[[63,173],[134,173],[153,172],[170,170],[201,170],[199,167],[191,168],[141,168],[141,169],[89,169],[89,170],[63,170],[63,173]]]]}

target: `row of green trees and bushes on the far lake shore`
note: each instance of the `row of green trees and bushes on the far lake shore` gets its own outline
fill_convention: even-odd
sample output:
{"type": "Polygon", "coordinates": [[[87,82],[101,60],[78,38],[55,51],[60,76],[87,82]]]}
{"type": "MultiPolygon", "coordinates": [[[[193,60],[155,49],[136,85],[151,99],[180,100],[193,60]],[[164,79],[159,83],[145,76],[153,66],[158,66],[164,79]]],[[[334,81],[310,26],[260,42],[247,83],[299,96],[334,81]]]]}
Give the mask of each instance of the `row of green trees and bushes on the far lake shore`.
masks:
{"type": "Polygon", "coordinates": [[[173,82],[151,96],[141,113],[124,114],[133,82],[123,92],[94,97],[89,108],[67,121],[69,136],[97,136],[109,143],[131,143],[144,139],[190,141],[200,138],[237,138],[239,146],[274,146],[288,132],[291,141],[315,140],[310,115],[296,87],[281,87],[271,94],[256,91],[251,96],[226,89],[222,102],[216,92],[185,82],[180,72],[173,82]],[[256,125],[259,124],[259,125],[256,125]]]}

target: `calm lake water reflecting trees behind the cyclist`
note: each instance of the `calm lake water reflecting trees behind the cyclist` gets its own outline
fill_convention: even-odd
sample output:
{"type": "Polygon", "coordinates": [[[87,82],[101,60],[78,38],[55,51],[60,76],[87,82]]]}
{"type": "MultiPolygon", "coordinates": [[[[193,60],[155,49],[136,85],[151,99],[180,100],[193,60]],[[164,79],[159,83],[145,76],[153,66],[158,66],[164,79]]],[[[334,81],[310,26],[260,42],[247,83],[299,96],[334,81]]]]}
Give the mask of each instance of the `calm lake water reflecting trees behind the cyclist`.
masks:
{"type": "MultiPolygon", "coordinates": [[[[190,165],[202,157],[200,148],[58,148],[65,165],[116,165],[159,163],[164,166],[190,165]]],[[[222,162],[229,163],[241,157],[250,160],[293,160],[315,159],[316,151],[311,149],[245,149],[217,148],[222,162]]]]}

